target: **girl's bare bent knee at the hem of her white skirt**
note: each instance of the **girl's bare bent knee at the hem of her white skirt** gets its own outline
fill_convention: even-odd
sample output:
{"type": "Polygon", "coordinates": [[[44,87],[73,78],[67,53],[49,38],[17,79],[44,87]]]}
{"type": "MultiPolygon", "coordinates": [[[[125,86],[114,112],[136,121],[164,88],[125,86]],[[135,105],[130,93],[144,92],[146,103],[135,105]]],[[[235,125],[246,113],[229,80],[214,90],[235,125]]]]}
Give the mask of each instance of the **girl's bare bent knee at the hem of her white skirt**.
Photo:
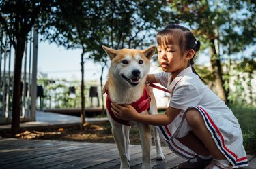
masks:
{"type": "Polygon", "coordinates": [[[186,121],[188,121],[188,124],[190,124],[190,126],[195,126],[203,123],[203,117],[201,116],[199,110],[188,109],[188,111],[186,112],[186,121]]]}

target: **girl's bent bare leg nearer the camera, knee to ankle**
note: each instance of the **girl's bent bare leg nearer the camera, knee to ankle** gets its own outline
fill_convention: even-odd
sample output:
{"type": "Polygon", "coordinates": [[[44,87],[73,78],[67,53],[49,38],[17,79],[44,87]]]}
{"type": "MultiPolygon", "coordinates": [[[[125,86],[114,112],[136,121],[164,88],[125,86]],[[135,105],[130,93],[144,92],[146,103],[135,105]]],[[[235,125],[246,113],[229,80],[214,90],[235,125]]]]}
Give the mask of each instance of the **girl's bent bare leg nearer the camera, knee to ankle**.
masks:
{"type": "Polygon", "coordinates": [[[201,140],[203,145],[206,147],[206,149],[208,149],[210,155],[212,155],[214,159],[226,159],[226,157],[223,155],[223,153],[221,153],[216,143],[212,139],[212,135],[210,134],[208,128],[206,128],[203,117],[197,109],[189,109],[186,112],[186,121],[188,121],[188,124],[193,129],[193,133],[195,133],[195,136],[197,136],[197,138],[201,140]]]}

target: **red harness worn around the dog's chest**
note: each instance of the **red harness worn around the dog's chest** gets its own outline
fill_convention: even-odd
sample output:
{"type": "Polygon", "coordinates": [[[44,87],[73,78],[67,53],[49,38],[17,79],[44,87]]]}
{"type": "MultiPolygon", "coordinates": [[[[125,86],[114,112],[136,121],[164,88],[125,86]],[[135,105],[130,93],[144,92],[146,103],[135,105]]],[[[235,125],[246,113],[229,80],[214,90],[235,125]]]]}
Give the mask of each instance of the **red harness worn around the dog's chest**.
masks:
{"type": "MultiPolygon", "coordinates": [[[[109,111],[109,115],[111,115],[112,119],[114,119],[115,121],[119,122],[120,124],[124,124],[126,126],[130,126],[130,123],[128,120],[123,120],[123,119],[119,119],[117,117],[115,117],[113,111],[111,111],[111,100],[109,98],[109,94],[107,94],[106,96],[106,109],[108,109],[109,111]]],[[[138,113],[141,113],[142,111],[145,111],[146,109],[150,109],[150,95],[147,92],[147,88],[144,88],[144,92],[143,95],[141,96],[141,98],[139,98],[139,100],[137,100],[136,102],[132,102],[132,107],[134,107],[134,109],[136,109],[136,111],[138,113]]]]}

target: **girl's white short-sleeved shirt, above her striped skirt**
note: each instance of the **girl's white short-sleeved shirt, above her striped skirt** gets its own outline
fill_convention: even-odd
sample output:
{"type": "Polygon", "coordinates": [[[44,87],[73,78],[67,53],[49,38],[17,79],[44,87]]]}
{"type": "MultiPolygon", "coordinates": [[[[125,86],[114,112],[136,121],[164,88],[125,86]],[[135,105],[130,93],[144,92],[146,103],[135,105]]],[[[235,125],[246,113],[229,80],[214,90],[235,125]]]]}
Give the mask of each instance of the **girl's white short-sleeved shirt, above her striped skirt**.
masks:
{"type": "Polygon", "coordinates": [[[198,75],[193,73],[191,67],[180,72],[173,81],[171,81],[171,73],[167,72],[157,73],[155,78],[158,83],[170,91],[170,107],[186,110],[188,107],[201,105],[207,109],[229,112],[233,116],[225,102],[203,84],[198,75]]]}

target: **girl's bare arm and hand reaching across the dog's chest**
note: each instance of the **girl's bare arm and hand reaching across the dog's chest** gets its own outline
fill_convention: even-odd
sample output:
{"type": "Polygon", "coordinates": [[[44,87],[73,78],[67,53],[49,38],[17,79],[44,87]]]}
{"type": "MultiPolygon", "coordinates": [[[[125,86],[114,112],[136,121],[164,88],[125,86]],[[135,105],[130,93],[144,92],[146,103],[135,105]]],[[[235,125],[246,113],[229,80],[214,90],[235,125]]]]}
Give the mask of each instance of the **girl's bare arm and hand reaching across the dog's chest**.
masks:
{"type": "Polygon", "coordinates": [[[181,111],[168,107],[164,114],[147,115],[138,113],[131,105],[117,105],[115,103],[111,103],[111,110],[119,119],[139,121],[155,126],[170,124],[181,111]]]}

